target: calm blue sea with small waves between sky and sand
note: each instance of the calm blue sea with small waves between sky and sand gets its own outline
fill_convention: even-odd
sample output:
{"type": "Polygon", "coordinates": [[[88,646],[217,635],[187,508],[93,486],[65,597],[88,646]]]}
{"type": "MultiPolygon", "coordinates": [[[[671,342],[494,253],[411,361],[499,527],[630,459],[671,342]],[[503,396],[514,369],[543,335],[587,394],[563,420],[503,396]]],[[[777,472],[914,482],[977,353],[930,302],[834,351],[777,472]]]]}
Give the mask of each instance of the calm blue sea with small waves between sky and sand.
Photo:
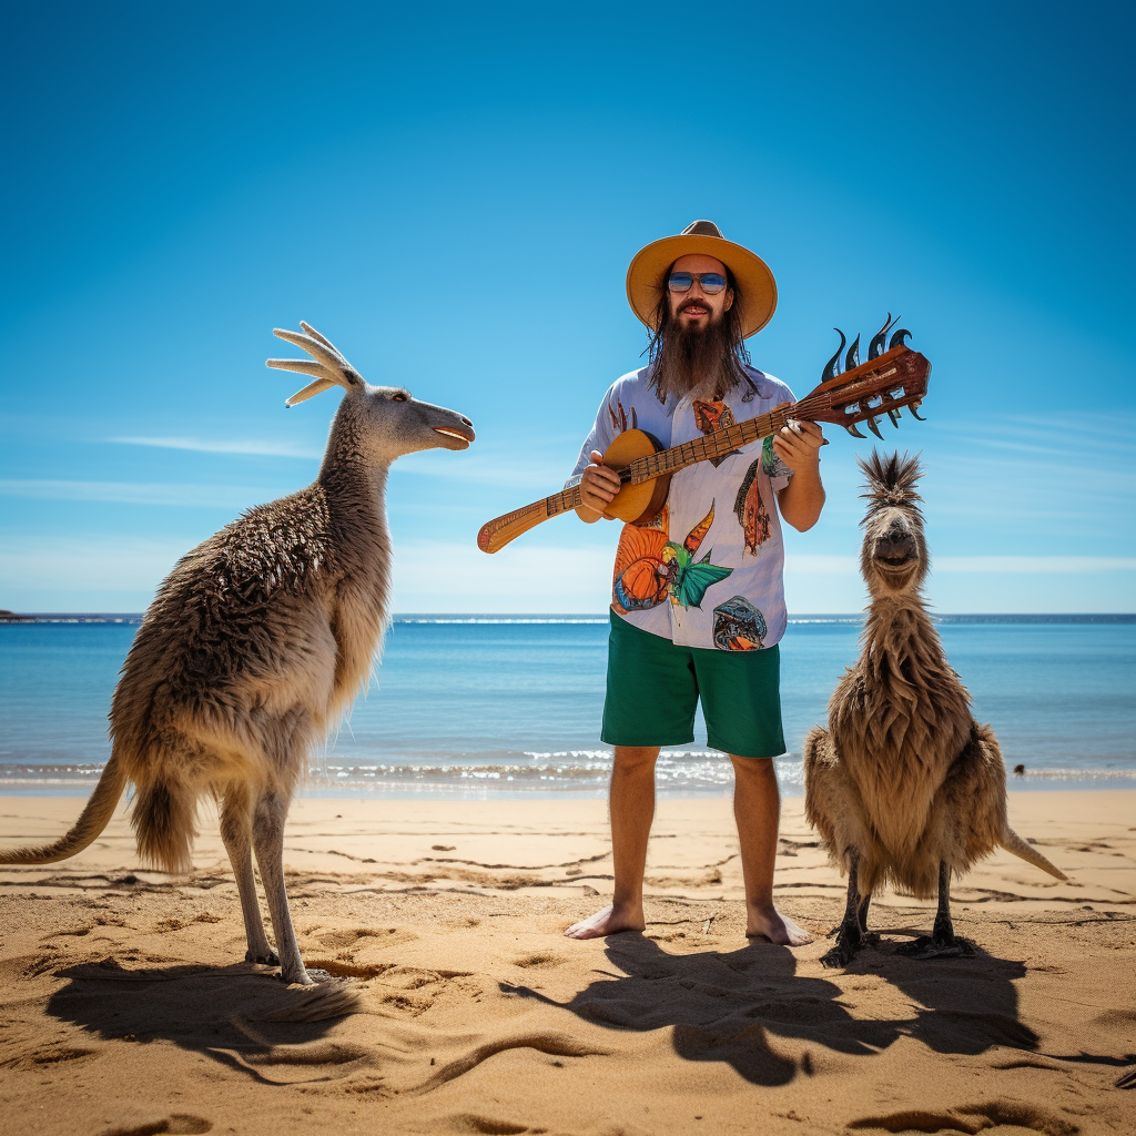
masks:
{"type": "MultiPolygon", "coordinates": [[[[82,794],[109,755],[107,711],[137,616],[0,624],[0,792],[82,794]]],[[[801,745],[859,652],[860,619],[792,619],[782,641],[787,794],[801,745]]],[[[939,634],[993,725],[1011,787],[1136,788],[1136,617],[951,616],[939,634]]],[[[608,617],[400,616],[367,693],[314,754],[306,792],[417,797],[596,796],[608,617]]],[[[661,793],[721,794],[709,750],[663,752],[661,793]]]]}

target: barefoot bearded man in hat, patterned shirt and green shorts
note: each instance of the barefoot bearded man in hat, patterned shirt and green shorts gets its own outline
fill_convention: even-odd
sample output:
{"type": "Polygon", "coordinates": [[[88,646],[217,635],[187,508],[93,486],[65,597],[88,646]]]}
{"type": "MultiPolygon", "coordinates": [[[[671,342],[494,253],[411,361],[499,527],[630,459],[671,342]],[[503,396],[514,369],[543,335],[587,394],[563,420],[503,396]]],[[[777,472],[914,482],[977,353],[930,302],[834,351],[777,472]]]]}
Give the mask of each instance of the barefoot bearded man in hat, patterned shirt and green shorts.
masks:
{"type": "MultiPolygon", "coordinates": [[[[627,298],[652,332],[650,362],[604,395],[580,451],[582,520],[593,524],[619,490],[603,451],[638,428],[663,446],[795,401],[749,365],[744,340],[772,316],[765,262],[711,222],[642,249],[627,298]]],[[[610,907],[569,938],[643,930],[643,872],[654,817],[654,763],[663,745],[694,740],[699,699],[709,744],[734,765],[734,813],[745,879],[746,934],[800,946],[811,936],[772,902],[780,796],[770,760],[785,751],[777,643],[787,616],[778,512],[804,532],[825,502],[815,423],[701,461],[675,475],[662,512],[627,525],[612,580],[602,738],[615,746],[610,907]]]]}

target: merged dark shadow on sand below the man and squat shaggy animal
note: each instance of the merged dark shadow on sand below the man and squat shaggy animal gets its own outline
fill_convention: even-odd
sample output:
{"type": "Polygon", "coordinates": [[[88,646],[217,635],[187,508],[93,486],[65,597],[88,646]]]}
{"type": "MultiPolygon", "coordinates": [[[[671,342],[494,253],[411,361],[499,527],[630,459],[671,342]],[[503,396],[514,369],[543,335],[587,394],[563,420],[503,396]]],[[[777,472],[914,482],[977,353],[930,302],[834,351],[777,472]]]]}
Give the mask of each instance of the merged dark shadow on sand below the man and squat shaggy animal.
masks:
{"type": "MultiPolygon", "coordinates": [[[[601,971],[607,977],[570,1002],[553,1002],[525,986],[501,988],[617,1029],[671,1027],[680,1056],[727,1062],[757,1085],[784,1085],[797,1072],[811,1076],[824,1050],[869,1056],[904,1036],[939,1053],[1037,1047],[1037,1036],[1017,1018],[1012,982],[1025,974],[1020,963],[987,955],[924,962],[893,950],[864,951],[850,971],[880,975],[922,1003],[895,1019],[871,1016],[870,991],[858,999],[863,1017],[853,1016],[835,982],[797,976],[793,953],[766,943],[670,954],[643,935],[625,933],[605,944],[624,974],[601,971]],[[771,1045],[776,1038],[795,1044],[771,1045]]],[[[894,995],[887,1001],[894,1004],[894,995]]]]}

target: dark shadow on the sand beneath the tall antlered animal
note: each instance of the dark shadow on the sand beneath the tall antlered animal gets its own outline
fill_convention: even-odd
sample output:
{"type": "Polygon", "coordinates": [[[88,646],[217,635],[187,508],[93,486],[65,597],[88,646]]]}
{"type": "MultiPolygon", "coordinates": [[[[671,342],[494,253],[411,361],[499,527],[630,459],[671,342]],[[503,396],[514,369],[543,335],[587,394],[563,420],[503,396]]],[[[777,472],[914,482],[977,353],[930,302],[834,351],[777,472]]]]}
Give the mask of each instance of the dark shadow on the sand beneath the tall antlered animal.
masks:
{"type": "Polygon", "coordinates": [[[169,1041],[257,1080],[269,1079],[257,1069],[258,1056],[318,1041],[359,1001],[339,983],[290,988],[248,963],[133,970],[107,959],[58,976],[69,982],[47,1010],[60,1021],[107,1041],[169,1041]]]}

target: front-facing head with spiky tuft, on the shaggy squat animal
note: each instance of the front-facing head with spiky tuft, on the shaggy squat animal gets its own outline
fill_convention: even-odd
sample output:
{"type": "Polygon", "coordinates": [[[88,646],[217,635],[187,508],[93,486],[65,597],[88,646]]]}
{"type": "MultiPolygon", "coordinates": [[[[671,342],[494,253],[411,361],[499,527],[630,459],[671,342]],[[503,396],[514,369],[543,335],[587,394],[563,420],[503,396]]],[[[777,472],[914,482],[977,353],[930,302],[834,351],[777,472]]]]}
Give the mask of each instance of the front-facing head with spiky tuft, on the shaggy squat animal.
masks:
{"type": "Polygon", "coordinates": [[[922,500],[916,484],[922,476],[919,458],[893,453],[882,458],[875,450],[864,461],[857,459],[868,478],[861,494],[868,500],[868,513],[861,521],[863,545],[860,571],[872,599],[918,594],[930,567],[922,500]]]}

